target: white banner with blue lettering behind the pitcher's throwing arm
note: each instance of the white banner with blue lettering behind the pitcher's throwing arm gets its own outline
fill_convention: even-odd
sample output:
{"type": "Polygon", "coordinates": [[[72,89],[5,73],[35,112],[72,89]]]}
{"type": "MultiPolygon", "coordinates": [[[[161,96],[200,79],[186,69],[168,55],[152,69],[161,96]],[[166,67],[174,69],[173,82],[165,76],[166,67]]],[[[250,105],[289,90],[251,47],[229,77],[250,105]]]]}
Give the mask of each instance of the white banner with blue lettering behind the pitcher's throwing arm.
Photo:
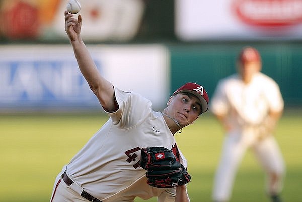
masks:
{"type": "MultiPolygon", "coordinates": [[[[166,104],[169,54],[161,45],[89,46],[99,72],[124,91],[166,104]]],[[[0,46],[0,111],[101,108],[66,46],[0,46]]]]}

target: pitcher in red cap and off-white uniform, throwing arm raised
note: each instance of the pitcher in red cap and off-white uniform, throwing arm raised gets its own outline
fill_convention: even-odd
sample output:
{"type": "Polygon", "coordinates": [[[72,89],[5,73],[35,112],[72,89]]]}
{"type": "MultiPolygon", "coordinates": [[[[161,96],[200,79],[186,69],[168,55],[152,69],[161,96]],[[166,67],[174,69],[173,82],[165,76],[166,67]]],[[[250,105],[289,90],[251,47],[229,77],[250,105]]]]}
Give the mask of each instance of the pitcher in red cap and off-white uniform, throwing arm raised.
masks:
{"type": "Polygon", "coordinates": [[[157,197],[159,202],[189,202],[186,184],[191,177],[174,134],[207,111],[205,89],[186,83],[162,112],[155,112],[149,100],[116,88],[100,75],[81,39],[81,27],[81,15],[75,19],[65,11],[65,30],[81,73],[110,118],[63,166],[50,201],[133,202],[136,197],[157,197]]]}

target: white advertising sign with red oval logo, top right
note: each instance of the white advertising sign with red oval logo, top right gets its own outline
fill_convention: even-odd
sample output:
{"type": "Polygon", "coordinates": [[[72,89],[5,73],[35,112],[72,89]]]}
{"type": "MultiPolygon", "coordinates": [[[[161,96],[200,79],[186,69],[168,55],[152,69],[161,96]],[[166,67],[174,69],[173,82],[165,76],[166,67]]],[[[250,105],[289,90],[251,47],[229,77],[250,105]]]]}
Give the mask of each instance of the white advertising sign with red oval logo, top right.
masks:
{"type": "Polygon", "coordinates": [[[302,37],[302,0],[176,1],[182,40],[287,40],[302,37]]]}

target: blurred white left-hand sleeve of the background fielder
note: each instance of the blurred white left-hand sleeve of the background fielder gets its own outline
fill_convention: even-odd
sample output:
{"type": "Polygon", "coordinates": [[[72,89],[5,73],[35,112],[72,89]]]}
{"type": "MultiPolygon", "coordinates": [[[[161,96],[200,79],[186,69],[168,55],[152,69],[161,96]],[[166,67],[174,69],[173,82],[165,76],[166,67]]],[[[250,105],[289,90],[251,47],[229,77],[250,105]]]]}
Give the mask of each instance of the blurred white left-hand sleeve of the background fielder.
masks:
{"type": "Polygon", "coordinates": [[[225,82],[219,81],[210,102],[210,111],[215,115],[224,115],[228,112],[228,99],[225,95],[225,82]]]}

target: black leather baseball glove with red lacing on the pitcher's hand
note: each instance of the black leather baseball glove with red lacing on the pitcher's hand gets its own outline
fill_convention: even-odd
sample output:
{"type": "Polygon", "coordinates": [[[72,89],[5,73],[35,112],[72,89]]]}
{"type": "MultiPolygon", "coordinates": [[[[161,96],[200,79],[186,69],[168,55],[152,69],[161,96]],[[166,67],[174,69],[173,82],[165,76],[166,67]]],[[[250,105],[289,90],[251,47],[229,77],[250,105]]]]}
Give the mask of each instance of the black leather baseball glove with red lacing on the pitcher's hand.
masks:
{"type": "Polygon", "coordinates": [[[140,166],[147,170],[147,183],[157,188],[182,186],[191,179],[173,151],[164,147],[142,148],[140,166]]]}

